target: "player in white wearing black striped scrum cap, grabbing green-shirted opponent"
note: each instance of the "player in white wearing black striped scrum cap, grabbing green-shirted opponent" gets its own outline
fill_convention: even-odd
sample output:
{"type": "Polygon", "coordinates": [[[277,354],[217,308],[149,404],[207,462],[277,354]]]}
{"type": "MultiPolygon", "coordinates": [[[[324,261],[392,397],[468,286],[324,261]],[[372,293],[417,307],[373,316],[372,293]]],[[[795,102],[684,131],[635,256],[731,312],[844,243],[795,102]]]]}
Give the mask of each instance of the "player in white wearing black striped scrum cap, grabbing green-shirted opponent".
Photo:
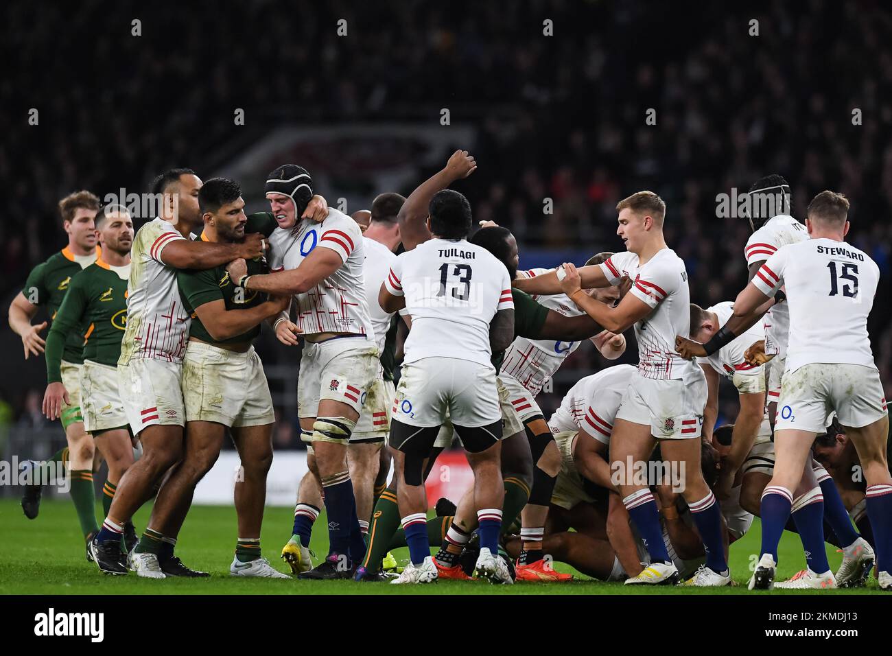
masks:
{"type": "Polygon", "coordinates": [[[347,444],[378,370],[378,348],[366,301],[362,231],[329,208],[325,220],[298,220],[313,195],[310,174],[294,164],[269,174],[267,197],[279,228],[269,237],[268,275],[230,268],[246,290],[293,295],[304,337],[298,379],[301,434],[310,436],[325,492],[329,552],[302,578],[346,578],[366,546],[345,468],[347,444]]]}

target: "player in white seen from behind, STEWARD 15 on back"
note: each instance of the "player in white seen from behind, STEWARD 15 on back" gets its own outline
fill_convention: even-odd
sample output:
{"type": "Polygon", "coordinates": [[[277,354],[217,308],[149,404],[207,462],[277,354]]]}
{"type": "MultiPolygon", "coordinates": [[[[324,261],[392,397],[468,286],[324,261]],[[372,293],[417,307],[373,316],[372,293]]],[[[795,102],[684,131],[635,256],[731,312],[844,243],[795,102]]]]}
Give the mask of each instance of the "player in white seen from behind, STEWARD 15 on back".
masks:
{"type": "Polygon", "coordinates": [[[880,270],[867,254],[845,243],[849,203],[824,191],[808,206],[807,241],[778,249],[734,303],[752,311],[787,290],[789,348],[775,424],[774,474],[762,496],[762,558],[750,589],[770,589],[777,545],[791,509],[805,546],[808,569],[798,586],[836,587],[823,548],[823,498],[814,486],[794,508],[793,492],[811,474],[810,448],[836,411],[855,444],[867,481],[867,510],[876,538],[880,587],[892,587],[892,477],[886,461],[888,412],[871,353],[867,318],[880,270]]]}

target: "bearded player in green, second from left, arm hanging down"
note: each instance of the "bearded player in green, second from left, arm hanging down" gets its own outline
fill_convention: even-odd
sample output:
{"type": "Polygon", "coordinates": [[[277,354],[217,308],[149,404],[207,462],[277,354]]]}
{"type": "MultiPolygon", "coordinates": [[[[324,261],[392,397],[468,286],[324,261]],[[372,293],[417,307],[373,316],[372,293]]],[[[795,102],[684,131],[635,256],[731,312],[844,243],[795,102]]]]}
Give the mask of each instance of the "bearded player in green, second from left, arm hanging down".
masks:
{"type": "MultiPolygon", "coordinates": [[[[62,355],[66,336],[80,334],[79,329],[86,326],[80,401],[84,429],[108,463],[103,487],[103,507],[108,513],[120,477],[134,461],[117,375],[120,340],[127,324],[133,221],[127,209],[106,205],[96,214],[95,229],[102,252],[95,263],[71,278],[68,294],[46,336],[44,414],[55,419],[70,402],[71,392],[62,377],[62,355]]],[[[136,545],[133,524],[125,526],[124,544],[128,551],[136,545]]]]}

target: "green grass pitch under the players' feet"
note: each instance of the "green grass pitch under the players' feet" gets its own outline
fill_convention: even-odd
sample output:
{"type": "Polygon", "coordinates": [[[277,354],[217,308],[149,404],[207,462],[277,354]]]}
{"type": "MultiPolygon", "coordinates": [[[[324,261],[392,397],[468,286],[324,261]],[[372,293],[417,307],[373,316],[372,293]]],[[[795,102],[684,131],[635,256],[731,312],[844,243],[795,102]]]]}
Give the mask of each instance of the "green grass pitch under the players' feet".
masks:
{"type": "MultiPolygon", "coordinates": [[[[97,507],[96,517],[102,511],[97,507]]],[[[148,508],[137,513],[136,527],[145,527],[148,508]]],[[[288,508],[268,508],[263,523],[264,554],[277,569],[287,572],[278,553],[292,525],[288,508]]],[[[325,516],[313,532],[312,548],[326,552],[325,516]]],[[[562,563],[556,569],[571,571],[580,580],[563,585],[516,584],[494,586],[484,582],[442,581],[436,585],[398,586],[357,584],[352,581],[285,581],[229,577],[229,563],[235,550],[235,510],[230,507],[196,506],[189,513],[177,547],[186,565],[210,571],[210,579],[169,578],[162,581],[101,574],[84,558],[74,509],[67,500],[45,501],[37,519],[29,520],[14,499],[0,501],[0,594],[753,594],[747,593],[751,554],[758,551],[758,520],[747,536],[731,546],[731,572],[742,585],[720,590],[692,590],[672,587],[643,588],[601,583],[583,577],[562,563]]],[[[838,567],[841,555],[828,549],[830,567],[838,567]]],[[[407,549],[394,552],[398,561],[407,561],[407,549]]],[[[805,567],[798,536],[786,533],[780,543],[779,579],[805,567]]],[[[875,581],[867,589],[838,590],[819,594],[879,593],[875,581]]],[[[772,594],[814,594],[814,591],[772,594]]]]}

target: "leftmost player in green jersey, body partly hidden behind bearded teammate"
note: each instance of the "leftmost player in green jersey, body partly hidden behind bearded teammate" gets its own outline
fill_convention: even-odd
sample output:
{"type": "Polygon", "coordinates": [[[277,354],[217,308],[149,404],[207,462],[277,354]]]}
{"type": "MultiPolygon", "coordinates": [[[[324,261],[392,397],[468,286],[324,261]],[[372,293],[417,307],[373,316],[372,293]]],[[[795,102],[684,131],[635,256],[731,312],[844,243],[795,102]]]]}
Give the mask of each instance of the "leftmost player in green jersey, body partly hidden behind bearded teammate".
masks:
{"type": "MultiPolygon", "coordinates": [[[[45,342],[40,331],[46,328],[47,321],[32,324],[31,320],[40,308],[44,308],[50,320],[62,306],[68,292],[71,278],[78,271],[96,260],[99,248],[93,220],[99,209],[99,199],[88,191],[78,191],[59,202],[62,214],[62,227],[68,233],[68,245],[61,252],[52,255],[46,262],[38,264],[29,274],[21,294],[12,299],[9,307],[10,328],[21,336],[25,349],[25,359],[29,355],[44,353],[45,342]]],[[[64,474],[67,464],[71,481],[71,500],[78,512],[80,528],[87,537],[96,530],[95,493],[93,491],[93,440],[84,432],[80,413],[79,370],[82,360],[83,331],[70,331],[62,353],[62,378],[69,391],[70,403],[62,407],[62,428],[68,446],[44,463],[25,461],[23,469],[30,469],[34,485],[26,487],[21,500],[22,510],[29,519],[37,517],[40,509],[41,484],[48,482],[50,471],[57,477],[64,474]]]]}

